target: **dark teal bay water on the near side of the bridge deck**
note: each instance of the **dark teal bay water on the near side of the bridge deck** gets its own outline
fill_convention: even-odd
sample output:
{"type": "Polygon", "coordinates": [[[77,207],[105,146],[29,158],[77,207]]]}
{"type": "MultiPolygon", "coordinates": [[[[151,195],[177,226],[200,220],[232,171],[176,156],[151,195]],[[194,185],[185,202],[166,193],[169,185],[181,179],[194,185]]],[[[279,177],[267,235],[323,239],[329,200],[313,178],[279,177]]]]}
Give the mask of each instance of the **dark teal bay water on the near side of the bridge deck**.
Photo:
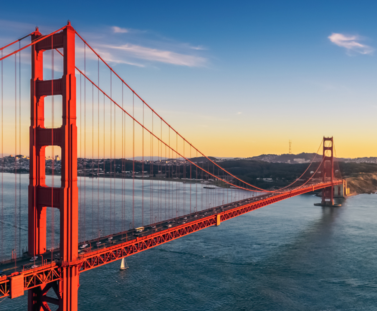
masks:
{"type": "Polygon", "coordinates": [[[377,310],[377,195],[319,201],[293,197],[127,257],[127,270],[83,272],[78,309],[377,310]]]}

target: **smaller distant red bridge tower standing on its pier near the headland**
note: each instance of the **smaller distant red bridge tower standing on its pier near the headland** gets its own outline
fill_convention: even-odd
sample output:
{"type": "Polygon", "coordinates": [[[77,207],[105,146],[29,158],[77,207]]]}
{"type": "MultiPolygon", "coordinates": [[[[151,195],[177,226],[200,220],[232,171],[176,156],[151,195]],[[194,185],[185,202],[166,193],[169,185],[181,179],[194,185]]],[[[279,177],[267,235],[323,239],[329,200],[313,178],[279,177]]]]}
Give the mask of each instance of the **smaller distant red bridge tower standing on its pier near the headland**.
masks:
{"type": "MultiPolygon", "coordinates": [[[[333,137],[323,137],[323,155],[322,155],[322,182],[334,182],[334,139],[333,137]],[[326,144],[326,142],[328,142],[326,144]],[[329,180],[328,180],[329,179],[329,180]]],[[[341,206],[334,204],[334,186],[322,189],[321,203],[315,203],[318,206],[341,206]]]]}

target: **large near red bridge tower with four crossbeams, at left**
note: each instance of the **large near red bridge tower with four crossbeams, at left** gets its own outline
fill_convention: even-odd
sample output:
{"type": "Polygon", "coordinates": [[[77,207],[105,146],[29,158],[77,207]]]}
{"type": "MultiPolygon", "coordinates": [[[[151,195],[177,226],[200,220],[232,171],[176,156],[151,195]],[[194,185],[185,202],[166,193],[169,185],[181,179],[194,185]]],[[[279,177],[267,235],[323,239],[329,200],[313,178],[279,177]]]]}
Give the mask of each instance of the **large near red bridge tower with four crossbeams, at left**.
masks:
{"type": "MultiPolygon", "coordinates": [[[[38,29],[32,40],[43,35],[38,29]]],[[[75,30],[68,25],[32,46],[30,173],[28,202],[29,254],[46,252],[46,209],[60,212],[60,280],[42,284],[28,291],[28,310],[50,310],[48,303],[59,311],[77,311],[78,291],[78,188],[77,188],[77,126],[75,78],[75,30]],[[63,76],[43,80],[43,52],[63,49],[63,76]],[[62,125],[44,126],[44,97],[62,97],[62,125]],[[61,186],[47,187],[45,149],[61,148],[61,186]],[[57,298],[46,294],[51,289],[57,298]]]]}

